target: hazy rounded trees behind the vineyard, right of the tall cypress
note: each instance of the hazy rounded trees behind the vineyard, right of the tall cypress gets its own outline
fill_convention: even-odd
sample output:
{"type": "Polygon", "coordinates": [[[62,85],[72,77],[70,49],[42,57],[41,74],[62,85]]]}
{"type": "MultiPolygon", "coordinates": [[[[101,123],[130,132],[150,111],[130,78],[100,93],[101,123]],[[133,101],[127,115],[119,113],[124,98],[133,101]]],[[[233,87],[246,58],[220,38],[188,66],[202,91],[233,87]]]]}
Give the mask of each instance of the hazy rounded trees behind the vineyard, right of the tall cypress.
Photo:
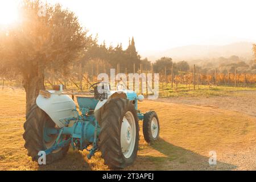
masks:
{"type": "Polygon", "coordinates": [[[171,68],[176,75],[179,72],[193,72],[193,64],[200,73],[212,74],[217,69],[218,73],[233,73],[236,68],[237,73],[253,73],[256,74],[256,44],[253,44],[253,52],[255,59],[244,60],[236,55],[230,57],[218,57],[210,60],[193,60],[174,62],[171,57],[162,57],[155,61],[154,72],[170,75],[171,68]]]}

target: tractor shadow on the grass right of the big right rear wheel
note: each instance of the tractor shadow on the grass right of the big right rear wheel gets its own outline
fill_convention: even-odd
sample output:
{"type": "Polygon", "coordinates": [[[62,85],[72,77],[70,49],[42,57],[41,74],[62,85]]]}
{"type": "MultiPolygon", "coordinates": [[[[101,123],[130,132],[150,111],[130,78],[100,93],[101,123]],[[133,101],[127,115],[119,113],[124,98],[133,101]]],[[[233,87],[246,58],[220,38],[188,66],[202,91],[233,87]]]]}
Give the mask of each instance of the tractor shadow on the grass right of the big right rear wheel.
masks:
{"type": "Polygon", "coordinates": [[[159,151],[162,156],[138,156],[133,170],[232,170],[237,167],[217,160],[216,165],[209,165],[209,157],[196,154],[190,150],[174,146],[160,138],[152,143],[152,149],[159,151]]]}

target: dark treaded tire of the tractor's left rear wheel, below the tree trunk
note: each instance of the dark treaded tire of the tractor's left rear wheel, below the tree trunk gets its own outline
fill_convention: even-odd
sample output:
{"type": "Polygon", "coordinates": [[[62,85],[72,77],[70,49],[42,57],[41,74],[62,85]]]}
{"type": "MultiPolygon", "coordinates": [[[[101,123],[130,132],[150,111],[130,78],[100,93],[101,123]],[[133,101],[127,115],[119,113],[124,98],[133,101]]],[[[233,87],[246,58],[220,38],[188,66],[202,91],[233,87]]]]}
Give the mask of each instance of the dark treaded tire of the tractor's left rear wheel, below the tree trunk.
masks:
{"type": "MultiPolygon", "coordinates": [[[[38,161],[38,152],[47,149],[43,139],[43,131],[46,122],[50,122],[54,127],[55,123],[51,118],[36,104],[31,107],[31,110],[26,116],[26,122],[24,123],[25,140],[24,147],[27,149],[27,155],[32,157],[32,160],[38,161]]],[[[68,152],[69,146],[63,147],[56,153],[52,153],[46,156],[46,164],[51,164],[56,160],[62,159],[68,152]]]]}

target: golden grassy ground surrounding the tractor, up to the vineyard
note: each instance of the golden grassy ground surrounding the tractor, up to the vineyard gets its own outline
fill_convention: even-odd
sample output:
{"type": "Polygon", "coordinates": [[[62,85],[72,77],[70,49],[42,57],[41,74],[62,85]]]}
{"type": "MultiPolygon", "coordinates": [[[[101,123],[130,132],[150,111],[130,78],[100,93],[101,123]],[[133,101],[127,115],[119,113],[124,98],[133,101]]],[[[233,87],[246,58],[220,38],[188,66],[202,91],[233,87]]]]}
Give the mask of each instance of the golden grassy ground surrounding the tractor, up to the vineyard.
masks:
{"type": "MultiPolygon", "coordinates": [[[[214,91],[139,103],[142,111],[158,113],[160,139],[147,144],[141,126],[137,160],[126,169],[255,170],[255,89],[214,91]],[[209,151],[217,152],[216,165],[209,165],[209,151]]],[[[0,90],[0,170],[108,170],[100,153],[88,160],[85,151],[72,149],[48,166],[32,162],[23,147],[25,103],[23,90],[0,90]]]]}

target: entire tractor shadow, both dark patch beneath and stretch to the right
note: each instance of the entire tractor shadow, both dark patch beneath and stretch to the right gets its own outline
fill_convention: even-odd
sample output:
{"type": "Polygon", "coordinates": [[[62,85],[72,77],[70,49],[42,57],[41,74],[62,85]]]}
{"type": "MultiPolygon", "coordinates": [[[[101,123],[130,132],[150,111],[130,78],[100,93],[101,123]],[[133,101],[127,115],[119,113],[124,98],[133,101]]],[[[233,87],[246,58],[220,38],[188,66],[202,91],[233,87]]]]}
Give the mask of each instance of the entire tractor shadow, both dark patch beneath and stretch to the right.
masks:
{"type": "MultiPolygon", "coordinates": [[[[218,160],[216,165],[209,165],[208,156],[174,146],[162,138],[148,146],[147,150],[156,150],[161,155],[138,155],[135,163],[124,170],[232,170],[237,168],[233,164],[218,160]]],[[[88,171],[92,170],[91,165],[92,163],[88,164],[81,152],[69,150],[64,159],[47,166],[39,166],[39,170],[88,171]]]]}

